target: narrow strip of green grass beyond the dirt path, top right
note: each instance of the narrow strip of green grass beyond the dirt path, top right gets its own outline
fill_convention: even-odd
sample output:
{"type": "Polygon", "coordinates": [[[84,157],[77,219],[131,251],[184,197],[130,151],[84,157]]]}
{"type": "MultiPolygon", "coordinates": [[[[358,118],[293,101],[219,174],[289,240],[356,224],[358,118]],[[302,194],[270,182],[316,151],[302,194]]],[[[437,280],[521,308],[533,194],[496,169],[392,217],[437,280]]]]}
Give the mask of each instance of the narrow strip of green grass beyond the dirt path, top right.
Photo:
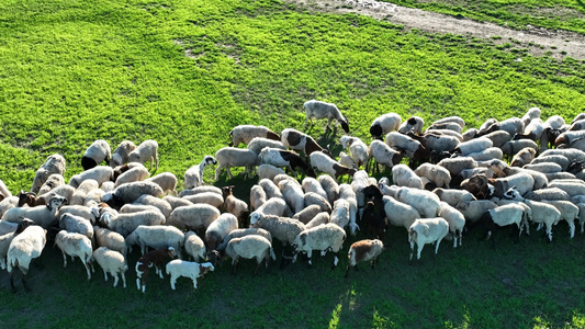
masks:
{"type": "Polygon", "coordinates": [[[585,33],[581,0],[395,0],[386,1],[482,22],[526,30],[528,25],[585,33]]]}

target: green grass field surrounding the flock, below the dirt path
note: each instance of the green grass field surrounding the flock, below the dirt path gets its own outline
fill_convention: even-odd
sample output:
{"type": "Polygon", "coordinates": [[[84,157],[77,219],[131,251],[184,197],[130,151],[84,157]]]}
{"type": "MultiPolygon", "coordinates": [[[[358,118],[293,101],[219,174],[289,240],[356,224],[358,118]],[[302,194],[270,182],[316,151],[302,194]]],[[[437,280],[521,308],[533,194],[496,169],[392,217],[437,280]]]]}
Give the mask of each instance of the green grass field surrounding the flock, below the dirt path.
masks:
{"type": "MultiPolygon", "coordinates": [[[[238,124],[274,131],[303,128],[304,101],[335,102],[351,134],[369,140],[374,117],[396,112],[427,122],[462,116],[542,116],[570,121],[585,109],[582,61],[532,57],[516,44],[461,35],[405,32],[359,15],[312,14],[279,1],[4,1],[0,4],[0,179],[27,190],[47,156],[68,161],[66,180],[81,171],[83,150],[98,138],[159,144],[159,172],[180,179],[204,155],[228,143],[238,124]],[[513,52],[513,49],[516,49],[513,52]],[[521,58],[521,61],[516,61],[521,58]]],[[[308,129],[319,143],[324,122],[308,129]]],[[[337,150],[339,146],[337,145],[337,150]]],[[[237,172],[237,171],[236,171],[237,172]]],[[[237,183],[246,200],[250,180],[237,183]]],[[[147,293],[114,290],[79,262],[61,269],[47,246],[45,269],[33,268],[31,294],[9,292],[0,273],[0,321],[18,327],[582,327],[583,237],[539,235],[496,250],[465,239],[461,249],[429,246],[407,261],[406,235],[393,228],[375,271],[362,264],[342,279],[333,257],[314,270],[296,263],[250,277],[227,263],[179,291],[151,277],[147,293]],[[95,316],[95,315],[106,316],[95,316]]],[[[359,235],[358,238],[363,238],[359,235]]],[[[345,252],[352,241],[346,242],[345,252]]],[[[280,246],[275,243],[277,254],[280,246]]],[[[131,268],[138,254],[130,258],[131,268]]],[[[345,260],[340,266],[344,268],[345,260]]],[[[111,280],[111,279],[110,279],[111,280]]]]}

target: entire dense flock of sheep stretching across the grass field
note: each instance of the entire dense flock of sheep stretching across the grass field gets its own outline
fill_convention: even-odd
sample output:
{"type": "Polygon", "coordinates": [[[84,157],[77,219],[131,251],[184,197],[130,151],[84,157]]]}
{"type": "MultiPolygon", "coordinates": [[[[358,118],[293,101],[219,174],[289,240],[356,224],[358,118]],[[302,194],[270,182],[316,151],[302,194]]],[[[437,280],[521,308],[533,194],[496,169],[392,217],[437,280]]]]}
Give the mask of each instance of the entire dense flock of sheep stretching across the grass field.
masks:
{"type": "MultiPolygon", "coordinates": [[[[313,100],[304,109],[305,128],[313,118],[327,118],[327,131],[335,121],[349,133],[335,104],[313,100]]],[[[64,266],[68,256],[78,257],[90,280],[97,262],[106,281],[111,274],[116,286],[120,275],[125,287],[126,257],[138,246],[136,285],[145,292],[149,269],[164,277],[165,264],[173,290],[179,276],[196,288],[196,279],[226,257],[234,272],[239,259],[255,259],[256,274],[262,261],[268,266],[275,260],[273,239],[284,246],[281,266],[299,253],[311,266],[313,251],[333,251],[336,266],[347,235],[362,230],[369,239],[350,246],[347,276],[358,262],[374,266],[389,226],[407,230],[410,259],[415,246],[420,258],[425,243],[435,243],[437,253],[446,237],[461,246],[464,229],[483,229],[494,241],[496,228],[510,226],[518,239],[536,223],[552,240],[552,227],[566,220],[573,238],[575,219],[582,232],[585,224],[585,114],[571,124],[540,116],[532,107],[521,118],[491,118],[463,132],[458,116],[423,131],[421,117],[403,122],[389,113],[373,121],[369,145],[341,136],[339,160],[300,131],[240,125],[229,132],[229,147],[184,172],[180,192],[173,173],[149,177],[153,163],[158,169],[155,140],[125,140],[113,152],[108,141],[95,140],[82,156],[85,171],[69,183],[60,155],[41,166],[29,192],[13,196],[0,181],[0,266],[10,273],[13,292],[16,269],[29,290],[30,263],[50,239],[63,251],[64,266]],[[370,177],[379,164],[392,180],[370,177]],[[216,166],[216,180],[223,170],[232,178],[233,167],[258,175],[249,203],[235,197],[233,186],[204,184],[207,166],[216,166]],[[339,183],[341,177],[351,182],[339,183]]]]}

